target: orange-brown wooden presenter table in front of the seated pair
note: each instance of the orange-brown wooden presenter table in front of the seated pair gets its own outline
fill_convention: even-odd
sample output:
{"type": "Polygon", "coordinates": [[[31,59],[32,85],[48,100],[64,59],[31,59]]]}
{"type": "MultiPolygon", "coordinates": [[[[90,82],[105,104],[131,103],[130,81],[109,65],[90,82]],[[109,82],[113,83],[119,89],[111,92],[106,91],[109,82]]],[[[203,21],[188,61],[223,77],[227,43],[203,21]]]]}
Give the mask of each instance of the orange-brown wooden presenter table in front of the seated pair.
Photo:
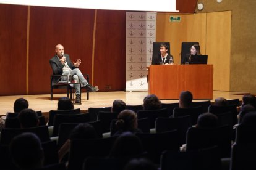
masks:
{"type": "Polygon", "coordinates": [[[148,94],[159,99],[179,99],[190,91],[194,99],[213,99],[213,65],[150,65],[148,94]]]}

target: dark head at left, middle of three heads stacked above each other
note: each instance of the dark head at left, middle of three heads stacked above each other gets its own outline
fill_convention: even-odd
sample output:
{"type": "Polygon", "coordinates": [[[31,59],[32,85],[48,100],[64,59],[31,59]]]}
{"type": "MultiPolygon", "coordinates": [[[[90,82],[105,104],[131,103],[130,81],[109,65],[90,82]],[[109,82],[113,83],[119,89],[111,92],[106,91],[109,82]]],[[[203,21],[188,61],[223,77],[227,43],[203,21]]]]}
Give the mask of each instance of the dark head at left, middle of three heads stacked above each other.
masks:
{"type": "Polygon", "coordinates": [[[37,113],[30,108],[20,111],[18,119],[21,128],[36,127],[39,124],[37,113]]]}

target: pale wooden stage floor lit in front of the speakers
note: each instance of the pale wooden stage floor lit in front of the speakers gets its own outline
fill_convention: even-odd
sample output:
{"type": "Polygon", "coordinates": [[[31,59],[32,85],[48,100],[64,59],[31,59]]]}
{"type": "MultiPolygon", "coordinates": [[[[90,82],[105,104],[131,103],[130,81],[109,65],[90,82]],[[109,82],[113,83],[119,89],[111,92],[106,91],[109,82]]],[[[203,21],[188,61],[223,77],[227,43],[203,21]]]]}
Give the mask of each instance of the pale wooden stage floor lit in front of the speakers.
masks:
{"type": "MultiPolygon", "coordinates": [[[[239,99],[242,100],[241,92],[226,92],[226,91],[213,91],[214,101],[217,97],[224,97],[226,99],[239,99]]],[[[90,93],[90,100],[86,100],[86,94],[82,93],[82,105],[75,105],[75,108],[80,108],[83,112],[87,111],[90,107],[109,107],[112,105],[113,100],[121,99],[127,105],[140,105],[143,104],[143,99],[148,95],[147,91],[143,92],[93,92],[90,93]]],[[[0,115],[6,115],[7,111],[13,112],[13,105],[16,99],[23,97],[28,100],[29,108],[35,111],[42,111],[47,115],[49,110],[56,110],[59,97],[65,97],[66,94],[54,94],[53,100],[50,100],[49,94],[41,95],[12,95],[0,97],[0,115]]],[[[195,102],[203,100],[194,100],[195,102]]],[[[161,100],[162,103],[176,103],[178,100],[161,100]]]]}

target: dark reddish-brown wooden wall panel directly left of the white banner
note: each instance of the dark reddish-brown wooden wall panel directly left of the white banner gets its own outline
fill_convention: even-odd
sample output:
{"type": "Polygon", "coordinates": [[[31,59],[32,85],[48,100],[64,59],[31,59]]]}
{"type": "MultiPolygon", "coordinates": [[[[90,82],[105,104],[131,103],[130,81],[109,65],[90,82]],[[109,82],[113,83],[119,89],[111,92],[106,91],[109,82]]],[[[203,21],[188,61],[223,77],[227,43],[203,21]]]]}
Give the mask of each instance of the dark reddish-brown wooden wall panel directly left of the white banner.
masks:
{"type": "Polygon", "coordinates": [[[126,11],[98,10],[94,84],[100,91],[123,91],[126,86],[126,11]],[[111,89],[105,90],[105,86],[111,89]]]}

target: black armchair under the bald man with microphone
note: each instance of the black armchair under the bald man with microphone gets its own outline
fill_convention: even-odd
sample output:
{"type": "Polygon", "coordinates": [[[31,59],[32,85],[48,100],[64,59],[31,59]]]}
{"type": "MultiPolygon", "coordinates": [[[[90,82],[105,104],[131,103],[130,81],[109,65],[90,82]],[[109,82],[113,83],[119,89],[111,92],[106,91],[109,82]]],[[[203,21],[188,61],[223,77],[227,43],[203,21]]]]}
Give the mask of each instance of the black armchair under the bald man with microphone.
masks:
{"type": "MultiPolygon", "coordinates": [[[[85,76],[87,82],[89,83],[89,75],[83,74],[83,76],[85,76]]],[[[67,79],[67,75],[51,75],[51,100],[53,100],[53,89],[67,89],[67,97],[69,97],[70,94],[70,99],[72,99],[73,87],[70,86],[67,80],[54,83],[54,79],[61,79],[61,77],[66,77],[67,79]]],[[[81,87],[81,89],[85,89],[85,87],[81,87]]],[[[87,100],[89,100],[89,92],[87,92],[87,100]]]]}

